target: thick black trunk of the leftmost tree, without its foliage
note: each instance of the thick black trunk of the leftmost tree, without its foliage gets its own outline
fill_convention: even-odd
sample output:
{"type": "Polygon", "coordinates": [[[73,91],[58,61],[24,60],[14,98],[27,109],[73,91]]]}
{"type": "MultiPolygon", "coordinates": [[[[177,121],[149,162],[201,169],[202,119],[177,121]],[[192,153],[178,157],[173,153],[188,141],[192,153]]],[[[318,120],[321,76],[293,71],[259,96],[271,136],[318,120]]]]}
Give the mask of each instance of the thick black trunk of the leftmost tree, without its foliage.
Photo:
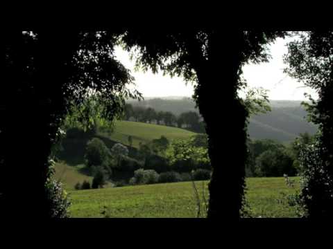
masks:
{"type": "Polygon", "coordinates": [[[67,34],[39,33],[32,49],[24,48],[22,34],[13,38],[12,44],[18,46],[14,45],[14,64],[6,75],[7,123],[5,139],[1,141],[6,145],[6,157],[1,165],[2,215],[33,219],[51,216],[45,188],[48,158],[60,118],[65,115],[62,86],[68,72],[64,66],[73,55],[73,41],[67,34]],[[27,51],[33,51],[35,67],[30,76],[22,73],[26,69],[27,51]]]}

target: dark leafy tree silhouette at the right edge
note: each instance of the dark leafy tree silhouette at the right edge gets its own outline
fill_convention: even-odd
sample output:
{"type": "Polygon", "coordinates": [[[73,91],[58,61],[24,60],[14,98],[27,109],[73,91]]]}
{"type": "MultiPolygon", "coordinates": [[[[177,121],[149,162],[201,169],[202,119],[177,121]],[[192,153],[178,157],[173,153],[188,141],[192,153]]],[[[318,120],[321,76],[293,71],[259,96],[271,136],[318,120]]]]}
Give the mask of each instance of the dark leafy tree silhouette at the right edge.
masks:
{"type": "MultiPolygon", "coordinates": [[[[310,218],[333,216],[333,32],[300,33],[300,39],[288,44],[291,77],[316,89],[318,101],[307,107],[319,133],[311,147],[303,147],[300,165],[305,177],[302,201],[310,218]]],[[[311,100],[311,98],[310,98],[311,100]]]]}

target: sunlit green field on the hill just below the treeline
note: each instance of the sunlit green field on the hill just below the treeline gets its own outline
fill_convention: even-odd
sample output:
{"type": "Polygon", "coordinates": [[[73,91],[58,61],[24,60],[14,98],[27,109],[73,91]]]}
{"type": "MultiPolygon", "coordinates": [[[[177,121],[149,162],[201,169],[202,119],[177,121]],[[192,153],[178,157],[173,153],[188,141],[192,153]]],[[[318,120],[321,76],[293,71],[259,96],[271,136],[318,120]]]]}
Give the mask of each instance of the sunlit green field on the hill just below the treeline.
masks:
{"type": "Polygon", "coordinates": [[[189,138],[196,133],[179,129],[176,127],[167,127],[157,124],[146,124],[143,122],[117,121],[113,133],[109,134],[111,140],[128,144],[128,136],[133,138],[133,147],[139,147],[139,142],[148,142],[155,138],[165,136],[169,140],[175,138],[189,138]]]}

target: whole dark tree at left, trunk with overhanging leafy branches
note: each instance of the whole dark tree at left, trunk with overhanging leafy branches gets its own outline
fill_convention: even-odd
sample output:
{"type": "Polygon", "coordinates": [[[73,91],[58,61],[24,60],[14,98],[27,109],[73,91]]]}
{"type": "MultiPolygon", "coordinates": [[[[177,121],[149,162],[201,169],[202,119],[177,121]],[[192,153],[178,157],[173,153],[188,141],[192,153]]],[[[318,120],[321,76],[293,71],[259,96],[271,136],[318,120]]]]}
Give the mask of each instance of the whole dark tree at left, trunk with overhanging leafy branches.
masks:
{"type": "Polygon", "coordinates": [[[45,188],[48,160],[71,104],[98,94],[105,102],[103,115],[111,120],[121,111],[124,97],[137,95],[126,89],[133,79],[113,56],[119,34],[73,30],[3,33],[1,215],[51,216],[45,188]],[[8,179],[13,175],[14,185],[8,179]]]}

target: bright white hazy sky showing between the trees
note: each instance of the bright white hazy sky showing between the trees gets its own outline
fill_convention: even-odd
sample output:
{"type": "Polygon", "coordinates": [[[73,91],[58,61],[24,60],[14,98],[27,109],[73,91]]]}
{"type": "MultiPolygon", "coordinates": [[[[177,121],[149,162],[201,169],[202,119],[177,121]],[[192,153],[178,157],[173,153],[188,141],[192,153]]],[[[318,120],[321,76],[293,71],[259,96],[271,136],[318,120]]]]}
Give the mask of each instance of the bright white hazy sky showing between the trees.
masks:
{"type": "MultiPolygon", "coordinates": [[[[270,46],[272,55],[270,62],[244,66],[244,77],[248,85],[250,87],[262,86],[264,89],[268,89],[268,96],[271,100],[305,100],[305,92],[316,98],[314,90],[303,87],[303,84],[283,73],[282,56],[287,53],[285,44],[286,41],[279,38],[270,46]]],[[[135,77],[135,88],[144,97],[191,97],[193,95],[194,87],[191,84],[185,85],[182,78],[171,78],[169,75],[163,76],[162,73],[154,75],[151,71],[135,72],[135,62],[131,62],[129,54],[120,47],[116,48],[116,56],[126,68],[130,69],[131,74],[135,77]]]]}

